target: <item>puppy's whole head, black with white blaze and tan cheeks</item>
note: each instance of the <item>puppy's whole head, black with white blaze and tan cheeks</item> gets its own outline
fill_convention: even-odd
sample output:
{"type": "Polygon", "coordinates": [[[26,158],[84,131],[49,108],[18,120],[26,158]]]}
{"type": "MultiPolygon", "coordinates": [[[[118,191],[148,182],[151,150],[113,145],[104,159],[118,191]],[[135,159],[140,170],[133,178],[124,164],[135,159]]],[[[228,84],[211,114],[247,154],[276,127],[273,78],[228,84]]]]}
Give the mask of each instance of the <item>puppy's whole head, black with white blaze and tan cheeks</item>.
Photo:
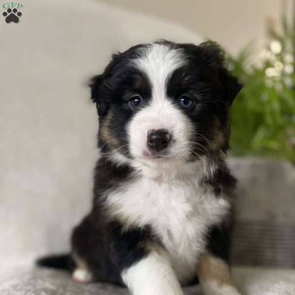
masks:
{"type": "Polygon", "coordinates": [[[90,86],[99,146],[118,163],[184,163],[228,148],[228,108],[241,85],[215,43],[132,47],[90,86]]]}

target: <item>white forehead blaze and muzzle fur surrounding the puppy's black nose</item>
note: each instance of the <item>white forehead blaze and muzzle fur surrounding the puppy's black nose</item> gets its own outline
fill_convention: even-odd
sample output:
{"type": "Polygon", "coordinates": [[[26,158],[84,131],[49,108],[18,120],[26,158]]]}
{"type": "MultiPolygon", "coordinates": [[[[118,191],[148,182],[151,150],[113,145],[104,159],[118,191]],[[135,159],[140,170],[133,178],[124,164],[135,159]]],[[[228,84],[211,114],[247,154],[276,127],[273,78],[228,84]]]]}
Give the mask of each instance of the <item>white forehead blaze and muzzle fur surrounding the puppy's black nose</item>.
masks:
{"type": "Polygon", "coordinates": [[[187,157],[189,138],[193,131],[190,119],[167,97],[167,81],[187,60],[181,49],[164,44],[152,44],[139,50],[141,57],[133,65],[144,72],[152,91],[148,105],[136,113],[128,125],[130,151],[135,157],[147,154],[147,134],[151,129],[167,129],[173,139],[169,149],[172,156],[187,157]]]}

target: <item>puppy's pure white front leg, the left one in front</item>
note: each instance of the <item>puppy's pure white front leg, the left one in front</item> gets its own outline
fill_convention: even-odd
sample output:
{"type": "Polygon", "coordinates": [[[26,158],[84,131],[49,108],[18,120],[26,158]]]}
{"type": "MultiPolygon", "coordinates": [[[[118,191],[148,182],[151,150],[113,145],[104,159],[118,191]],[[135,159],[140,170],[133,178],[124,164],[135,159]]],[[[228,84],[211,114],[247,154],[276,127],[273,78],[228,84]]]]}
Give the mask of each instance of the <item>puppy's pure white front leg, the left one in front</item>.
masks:
{"type": "Polygon", "coordinates": [[[183,295],[164,249],[151,250],[123,270],[122,278],[133,295],[183,295]]]}

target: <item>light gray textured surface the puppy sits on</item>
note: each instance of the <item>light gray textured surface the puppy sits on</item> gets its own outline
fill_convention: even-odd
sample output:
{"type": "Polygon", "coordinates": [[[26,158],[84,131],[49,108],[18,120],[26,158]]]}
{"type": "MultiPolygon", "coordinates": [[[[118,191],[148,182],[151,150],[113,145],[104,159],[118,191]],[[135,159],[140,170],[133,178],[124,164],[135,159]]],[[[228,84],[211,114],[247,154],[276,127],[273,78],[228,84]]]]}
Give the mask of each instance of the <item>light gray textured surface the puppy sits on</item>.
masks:
{"type": "MultiPolygon", "coordinates": [[[[295,271],[235,267],[233,277],[242,295],[294,295],[295,271]]],[[[184,288],[185,295],[202,295],[199,285],[184,288]]],[[[0,272],[1,295],[128,295],[110,284],[81,284],[63,271],[18,268],[0,272]]]]}

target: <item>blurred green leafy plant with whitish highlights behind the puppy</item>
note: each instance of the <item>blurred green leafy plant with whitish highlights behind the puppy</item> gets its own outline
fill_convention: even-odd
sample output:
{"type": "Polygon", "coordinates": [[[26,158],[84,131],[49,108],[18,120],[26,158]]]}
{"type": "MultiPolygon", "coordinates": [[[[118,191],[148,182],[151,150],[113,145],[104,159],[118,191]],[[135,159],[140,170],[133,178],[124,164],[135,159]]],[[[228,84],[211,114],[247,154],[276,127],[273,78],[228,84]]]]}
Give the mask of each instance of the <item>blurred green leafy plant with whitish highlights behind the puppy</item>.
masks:
{"type": "Polygon", "coordinates": [[[230,112],[233,155],[295,162],[295,30],[286,19],[282,24],[282,33],[269,28],[270,43],[259,64],[251,61],[249,45],[228,57],[244,84],[230,112]]]}

